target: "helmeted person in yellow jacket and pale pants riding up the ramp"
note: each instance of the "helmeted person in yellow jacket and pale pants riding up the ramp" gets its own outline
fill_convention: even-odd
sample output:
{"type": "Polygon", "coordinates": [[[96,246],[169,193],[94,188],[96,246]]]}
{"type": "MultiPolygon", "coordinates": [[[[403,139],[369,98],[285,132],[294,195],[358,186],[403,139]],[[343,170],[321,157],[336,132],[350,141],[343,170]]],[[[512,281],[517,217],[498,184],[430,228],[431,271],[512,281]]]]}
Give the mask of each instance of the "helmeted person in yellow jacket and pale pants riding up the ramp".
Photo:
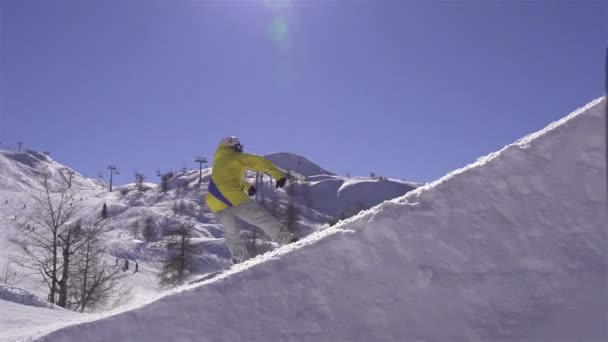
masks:
{"type": "Polygon", "coordinates": [[[243,145],[236,137],[222,139],[213,157],[209,192],[205,201],[224,226],[232,262],[236,264],[249,258],[241,239],[241,230],[236,225],[237,217],[259,227],[281,245],[296,241],[296,237],[286,227],[247,196],[256,193],[255,187],[244,180],[247,170],[269,174],[277,180],[277,188],[284,187],[287,181],[283,172],[266,158],[243,153],[243,145]]]}

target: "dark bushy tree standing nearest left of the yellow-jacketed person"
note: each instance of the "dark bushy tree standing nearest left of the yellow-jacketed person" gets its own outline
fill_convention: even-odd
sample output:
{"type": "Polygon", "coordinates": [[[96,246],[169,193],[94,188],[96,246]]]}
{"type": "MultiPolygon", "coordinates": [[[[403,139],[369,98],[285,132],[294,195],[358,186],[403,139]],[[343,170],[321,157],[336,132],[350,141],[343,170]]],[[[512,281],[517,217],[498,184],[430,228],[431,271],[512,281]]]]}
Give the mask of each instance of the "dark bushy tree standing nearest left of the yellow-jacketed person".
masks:
{"type": "Polygon", "coordinates": [[[182,224],[175,232],[177,239],[167,243],[167,259],[158,275],[161,287],[184,284],[194,269],[196,246],[190,240],[192,225],[182,224]]]}

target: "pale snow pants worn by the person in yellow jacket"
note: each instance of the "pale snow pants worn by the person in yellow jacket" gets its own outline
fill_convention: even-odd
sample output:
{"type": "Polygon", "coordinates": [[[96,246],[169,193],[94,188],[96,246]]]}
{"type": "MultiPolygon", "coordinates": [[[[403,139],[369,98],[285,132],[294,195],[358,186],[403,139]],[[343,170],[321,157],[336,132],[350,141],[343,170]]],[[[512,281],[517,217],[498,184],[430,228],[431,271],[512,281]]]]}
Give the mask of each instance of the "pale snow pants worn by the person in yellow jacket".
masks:
{"type": "Polygon", "coordinates": [[[226,244],[233,262],[242,262],[249,258],[249,252],[241,239],[241,229],[236,218],[259,227],[273,241],[281,245],[289,243],[294,237],[277,219],[272,217],[258,202],[249,201],[236,207],[226,208],[215,214],[224,226],[226,244]]]}

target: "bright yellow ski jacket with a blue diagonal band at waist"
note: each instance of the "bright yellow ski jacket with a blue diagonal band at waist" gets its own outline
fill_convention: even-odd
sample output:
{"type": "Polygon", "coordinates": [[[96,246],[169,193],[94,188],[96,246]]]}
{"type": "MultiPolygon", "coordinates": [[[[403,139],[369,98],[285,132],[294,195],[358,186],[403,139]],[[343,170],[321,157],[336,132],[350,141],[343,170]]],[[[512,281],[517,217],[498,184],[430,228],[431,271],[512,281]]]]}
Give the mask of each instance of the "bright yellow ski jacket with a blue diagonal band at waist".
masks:
{"type": "Polygon", "coordinates": [[[249,201],[247,192],[251,185],[244,179],[247,170],[267,173],[277,180],[285,177],[270,160],[236,152],[230,147],[220,146],[213,159],[209,192],[205,201],[214,213],[249,201]]]}

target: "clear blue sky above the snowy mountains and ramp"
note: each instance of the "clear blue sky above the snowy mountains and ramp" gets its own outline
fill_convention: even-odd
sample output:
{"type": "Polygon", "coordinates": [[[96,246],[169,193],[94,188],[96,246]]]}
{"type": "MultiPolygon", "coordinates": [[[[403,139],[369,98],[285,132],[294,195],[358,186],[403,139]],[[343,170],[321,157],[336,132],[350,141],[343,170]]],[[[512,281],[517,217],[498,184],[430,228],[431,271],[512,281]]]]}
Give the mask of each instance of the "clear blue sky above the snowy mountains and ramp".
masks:
{"type": "Polygon", "coordinates": [[[608,1],[0,0],[0,141],[95,177],[220,138],[434,180],[604,94],[608,1]]]}

